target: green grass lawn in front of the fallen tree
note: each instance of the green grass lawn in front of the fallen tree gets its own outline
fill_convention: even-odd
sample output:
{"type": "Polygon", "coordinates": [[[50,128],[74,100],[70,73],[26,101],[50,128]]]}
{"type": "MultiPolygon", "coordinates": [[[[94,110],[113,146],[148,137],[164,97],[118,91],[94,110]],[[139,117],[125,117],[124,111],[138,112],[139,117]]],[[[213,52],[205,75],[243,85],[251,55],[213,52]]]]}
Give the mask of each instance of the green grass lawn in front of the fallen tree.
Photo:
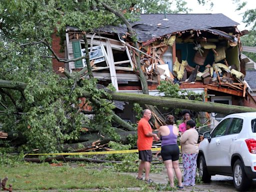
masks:
{"type": "Polygon", "coordinates": [[[5,176],[8,176],[7,186],[12,184],[13,191],[127,191],[126,187],[144,185],[144,182],[130,175],[67,163],[63,163],[62,166],[28,162],[1,164],[0,178],[5,176]]]}

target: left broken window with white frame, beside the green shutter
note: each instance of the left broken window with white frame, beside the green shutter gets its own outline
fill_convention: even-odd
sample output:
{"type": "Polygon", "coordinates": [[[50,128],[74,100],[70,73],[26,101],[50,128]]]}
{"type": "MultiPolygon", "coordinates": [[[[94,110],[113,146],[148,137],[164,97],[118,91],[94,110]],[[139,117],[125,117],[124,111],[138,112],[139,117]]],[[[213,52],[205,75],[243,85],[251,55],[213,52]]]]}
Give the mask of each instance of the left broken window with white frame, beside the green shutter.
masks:
{"type": "MultiPolygon", "coordinates": [[[[82,55],[85,55],[85,48],[81,49],[82,55]]],[[[103,45],[97,45],[88,47],[89,51],[89,60],[94,60],[94,65],[92,66],[92,70],[94,69],[103,69],[108,68],[108,60],[105,48],[103,45]]],[[[83,59],[83,63],[86,66],[86,60],[83,59]]]]}

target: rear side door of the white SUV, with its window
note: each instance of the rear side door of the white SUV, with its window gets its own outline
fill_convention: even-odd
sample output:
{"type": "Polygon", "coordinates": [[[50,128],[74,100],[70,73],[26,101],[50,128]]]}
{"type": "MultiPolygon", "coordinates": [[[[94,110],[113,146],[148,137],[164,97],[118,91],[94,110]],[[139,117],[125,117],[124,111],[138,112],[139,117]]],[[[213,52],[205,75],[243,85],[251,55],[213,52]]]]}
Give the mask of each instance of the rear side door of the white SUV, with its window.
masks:
{"type": "MultiPolygon", "coordinates": [[[[221,162],[220,166],[230,167],[231,155],[234,150],[233,148],[234,145],[232,143],[235,142],[235,140],[237,139],[238,133],[242,129],[242,123],[243,123],[242,118],[232,118],[230,125],[228,126],[227,132],[225,133],[224,136],[220,137],[219,144],[218,144],[220,148],[220,154],[219,154],[219,159],[221,162]]],[[[231,169],[229,171],[232,172],[231,169]]]]}

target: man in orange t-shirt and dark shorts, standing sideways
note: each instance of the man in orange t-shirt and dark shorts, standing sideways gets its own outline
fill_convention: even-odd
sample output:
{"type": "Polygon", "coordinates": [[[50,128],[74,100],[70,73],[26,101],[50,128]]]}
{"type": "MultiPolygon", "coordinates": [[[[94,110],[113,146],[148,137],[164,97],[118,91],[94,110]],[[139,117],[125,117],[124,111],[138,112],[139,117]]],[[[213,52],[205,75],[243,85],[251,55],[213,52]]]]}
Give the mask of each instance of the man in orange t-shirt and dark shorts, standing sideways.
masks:
{"type": "Polygon", "coordinates": [[[154,140],[159,140],[157,134],[152,133],[152,129],[148,120],[151,118],[151,111],[149,109],[144,109],[142,111],[142,118],[138,121],[137,126],[137,148],[138,148],[138,158],[141,160],[138,166],[138,176],[137,179],[142,180],[142,172],[145,170],[145,182],[150,183],[152,180],[149,177],[150,162],[152,161],[152,142],[154,140]]]}

